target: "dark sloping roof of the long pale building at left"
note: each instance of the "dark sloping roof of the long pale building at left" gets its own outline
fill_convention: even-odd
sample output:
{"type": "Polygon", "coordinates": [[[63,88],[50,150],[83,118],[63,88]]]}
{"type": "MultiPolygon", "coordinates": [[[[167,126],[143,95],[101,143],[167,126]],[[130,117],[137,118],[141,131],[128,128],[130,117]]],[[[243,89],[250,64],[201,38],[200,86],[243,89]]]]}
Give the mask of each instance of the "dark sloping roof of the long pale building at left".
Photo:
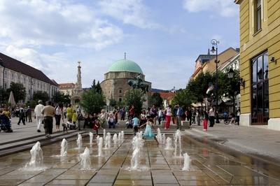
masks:
{"type": "Polygon", "coordinates": [[[17,59],[13,59],[12,57],[8,57],[7,55],[4,55],[3,53],[0,52],[0,64],[1,66],[16,71],[18,73],[22,73],[26,76],[29,76],[31,78],[41,80],[45,83],[50,83],[50,85],[57,86],[48,76],[45,76],[45,73],[42,71],[35,69],[32,66],[29,66],[23,62],[18,61],[17,59]]]}

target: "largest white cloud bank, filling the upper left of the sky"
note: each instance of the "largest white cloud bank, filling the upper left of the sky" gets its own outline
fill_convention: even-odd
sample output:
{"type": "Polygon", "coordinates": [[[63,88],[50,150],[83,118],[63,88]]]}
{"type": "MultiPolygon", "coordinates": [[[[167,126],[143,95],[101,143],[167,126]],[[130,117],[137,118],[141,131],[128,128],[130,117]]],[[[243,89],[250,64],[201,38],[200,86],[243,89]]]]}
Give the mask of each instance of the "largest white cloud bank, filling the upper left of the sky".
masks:
{"type": "Polygon", "coordinates": [[[1,0],[0,7],[0,38],[11,45],[70,45],[100,50],[123,38],[122,29],[79,3],[1,0]]]}

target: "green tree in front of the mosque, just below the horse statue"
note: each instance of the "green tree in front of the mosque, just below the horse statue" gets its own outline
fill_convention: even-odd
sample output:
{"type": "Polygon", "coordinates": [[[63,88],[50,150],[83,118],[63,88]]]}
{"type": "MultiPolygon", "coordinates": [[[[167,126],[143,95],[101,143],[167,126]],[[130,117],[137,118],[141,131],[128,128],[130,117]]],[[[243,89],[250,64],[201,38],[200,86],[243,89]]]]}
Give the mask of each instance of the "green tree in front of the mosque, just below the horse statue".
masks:
{"type": "Polygon", "coordinates": [[[132,89],[128,90],[124,96],[126,106],[134,106],[135,113],[140,114],[144,103],[144,93],[141,90],[132,89]]]}

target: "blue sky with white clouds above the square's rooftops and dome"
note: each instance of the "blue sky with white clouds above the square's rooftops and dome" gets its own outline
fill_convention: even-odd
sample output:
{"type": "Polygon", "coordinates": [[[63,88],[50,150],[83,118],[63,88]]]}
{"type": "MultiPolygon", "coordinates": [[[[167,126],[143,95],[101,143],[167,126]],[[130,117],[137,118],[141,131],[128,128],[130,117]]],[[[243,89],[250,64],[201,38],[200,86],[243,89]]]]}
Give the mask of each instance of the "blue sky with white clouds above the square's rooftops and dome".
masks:
{"type": "Polygon", "coordinates": [[[218,51],[239,48],[234,0],[1,0],[0,52],[57,83],[83,87],[130,59],[153,88],[185,88],[211,39],[218,51]]]}

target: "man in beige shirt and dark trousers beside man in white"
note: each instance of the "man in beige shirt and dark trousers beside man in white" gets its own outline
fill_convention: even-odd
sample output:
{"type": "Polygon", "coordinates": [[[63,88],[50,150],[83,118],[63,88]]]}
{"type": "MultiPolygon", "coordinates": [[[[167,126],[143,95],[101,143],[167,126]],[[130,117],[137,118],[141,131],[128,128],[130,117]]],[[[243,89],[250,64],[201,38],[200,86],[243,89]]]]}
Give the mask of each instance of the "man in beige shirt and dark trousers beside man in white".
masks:
{"type": "Polygon", "coordinates": [[[47,106],[43,107],[42,114],[43,114],[43,121],[44,121],[44,129],[45,129],[45,137],[49,138],[50,134],[52,134],[52,122],[55,116],[55,108],[51,106],[50,101],[47,102],[47,106]]]}

